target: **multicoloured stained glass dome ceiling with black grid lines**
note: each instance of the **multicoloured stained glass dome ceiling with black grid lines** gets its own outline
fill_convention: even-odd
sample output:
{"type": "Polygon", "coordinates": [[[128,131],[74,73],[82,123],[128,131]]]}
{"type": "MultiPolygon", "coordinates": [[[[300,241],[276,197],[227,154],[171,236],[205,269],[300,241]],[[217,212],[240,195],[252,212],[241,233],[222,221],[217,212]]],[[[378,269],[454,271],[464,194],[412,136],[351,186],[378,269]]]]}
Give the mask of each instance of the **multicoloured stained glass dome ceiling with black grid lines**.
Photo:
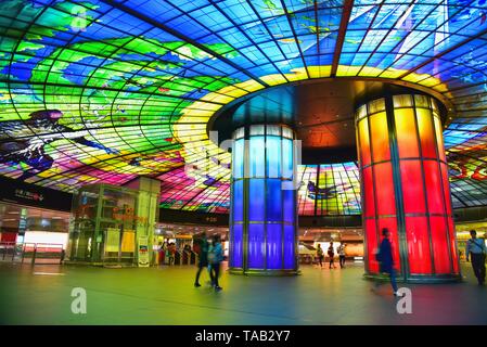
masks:
{"type": "MultiPolygon", "coordinates": [[[[452,103],[456,207],[487,205],[486,0],[0,2],[0,174],[73,191],[162,180],[162,207],[227,213],[206,124],[270,86],[403,80],[452,103]]],[[[355,163],[300,167],[303,215],[358,214],[355,163]]]]}

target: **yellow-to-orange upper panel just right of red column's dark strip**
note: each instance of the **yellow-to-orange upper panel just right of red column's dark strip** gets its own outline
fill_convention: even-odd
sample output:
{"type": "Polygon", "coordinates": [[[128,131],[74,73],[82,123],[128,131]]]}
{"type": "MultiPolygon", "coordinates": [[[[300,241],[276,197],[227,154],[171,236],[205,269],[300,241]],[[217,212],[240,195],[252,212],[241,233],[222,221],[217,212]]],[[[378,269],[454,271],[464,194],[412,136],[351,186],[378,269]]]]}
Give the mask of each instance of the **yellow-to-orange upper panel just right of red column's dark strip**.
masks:
{"type": "Polygon", "coordinates": [[[396,120],[396,136],[397,145],[399,147],[399,157],[419,157],[420,150],[418,145],[416,127],[414,121],[414,110],[395,110],[394,118],[396,120]]]}

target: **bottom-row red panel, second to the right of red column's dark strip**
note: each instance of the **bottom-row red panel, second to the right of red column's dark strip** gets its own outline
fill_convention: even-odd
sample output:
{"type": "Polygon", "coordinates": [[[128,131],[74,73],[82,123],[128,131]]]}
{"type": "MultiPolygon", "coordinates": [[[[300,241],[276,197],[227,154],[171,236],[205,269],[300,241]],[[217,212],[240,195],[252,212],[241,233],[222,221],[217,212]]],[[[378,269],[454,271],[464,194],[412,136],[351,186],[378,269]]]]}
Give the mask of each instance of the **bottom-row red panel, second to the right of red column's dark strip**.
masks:
{"type": "Polygon", "coordinates": [[[433,259],[436,273],[450,273],[450,255],[445,217],[430,217],[432,227],[433,259]]]}

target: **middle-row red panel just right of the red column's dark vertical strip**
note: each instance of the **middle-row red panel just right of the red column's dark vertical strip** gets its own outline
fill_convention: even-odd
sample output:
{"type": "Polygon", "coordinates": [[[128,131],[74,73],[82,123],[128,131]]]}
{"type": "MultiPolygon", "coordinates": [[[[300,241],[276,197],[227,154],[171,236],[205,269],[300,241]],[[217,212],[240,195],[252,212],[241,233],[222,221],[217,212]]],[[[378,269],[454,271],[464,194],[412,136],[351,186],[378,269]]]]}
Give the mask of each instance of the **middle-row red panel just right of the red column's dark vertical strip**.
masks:
{"type": "Polygon", "coordinates": [[[420,160],[401,160],[400,177],[405,214],[424,214],[424,187],[420,160]]]}

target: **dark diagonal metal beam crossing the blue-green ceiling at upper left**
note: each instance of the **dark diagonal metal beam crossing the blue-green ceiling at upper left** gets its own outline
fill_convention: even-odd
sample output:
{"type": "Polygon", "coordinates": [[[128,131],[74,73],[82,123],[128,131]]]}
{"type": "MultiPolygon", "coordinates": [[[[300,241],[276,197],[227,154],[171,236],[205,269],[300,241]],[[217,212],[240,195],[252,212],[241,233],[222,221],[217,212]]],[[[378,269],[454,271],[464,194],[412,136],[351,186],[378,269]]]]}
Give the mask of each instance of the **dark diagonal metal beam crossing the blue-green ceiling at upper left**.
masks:
{"type": "Polygon", "coordinates": [[[259,82],[260,85],[262,85],[265,87],[269,87],[269,85],[267,85],[266,82],[261,81],[257,76],[255,76],[254,74],[251,74],[249,72],[247,72],[245,69],[242,69],[238,64],[233,63],[231,60],[222,56],[221,54],[218,54],[217,52],[208,49],[204,44],[202,44],[202,43],[200,43],[200,42],[197,42],[197,41],[187,37],[185,35],[183,35],[183,34],[181,34],[181,33],[179,33],[179,31],[168,27],[167,25],[165,25],[165,24],[163,24],[161,22],[157,22],[157,21],[146,16],[145,14],[137,12],[136,10],[133,10],[133,9],[123,4],[123,3],[119,3],[117,1],[114,1],[114,0],[101,0],[101,1],[106,3],[106,4],[108,4],[108,5],[111,5],[111,7],[113,7],[113,8],[115,8],[115,9],[117,9],[117,10],[119,10],[119,11],[121,11],[121,12],[126,12],[126,13],[134,16],[138,20],[141,20],[141,21],[143,21],[145,23],[149,23],[149,24],[153,25],[154,27],[159,28],[159,29],[162,29],[162,30],[164,30],[164,31],[166,31],[166,33],[177,37],[181,41],[184,41],[184,42],[188,42],[188,43],[190,43],[190,44],[192,44],[194,47],[197,47],[200,50],[202,50],[202,51],[204,51],[204,52],[206,52],[206,53],[217,57],[218,60],[225,62],[226,64],[232,66],[238,72],[241,72],[242,74],[247,75],[251,79],[256,80],[257,82],[259,82]]]}

